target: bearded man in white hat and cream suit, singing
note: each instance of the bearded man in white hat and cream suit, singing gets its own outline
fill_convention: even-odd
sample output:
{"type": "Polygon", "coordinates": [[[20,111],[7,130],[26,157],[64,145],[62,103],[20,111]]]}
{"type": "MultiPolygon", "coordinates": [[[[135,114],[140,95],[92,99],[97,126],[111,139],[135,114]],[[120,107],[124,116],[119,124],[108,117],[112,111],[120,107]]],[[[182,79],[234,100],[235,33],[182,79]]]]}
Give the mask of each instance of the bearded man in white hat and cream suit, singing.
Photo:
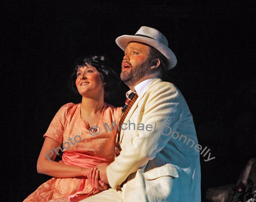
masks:
{"type": "MultiPolygon", "coordinates": [[[[124,113],[114,162],[89,176],[92,182],[100,175],[112,188],[83,201],[200,202],[200,160],[199,150],[192,148],[198,144],[192,115],[181,92],[161,79],[177,63],[166,37],[143,26],[135,35],[118,37],[116,43],[124,50],[121,79],[131,89],[127,96],[136,92],[138,98],[132,98],[135,102],[124,113]]],[[[106,188],[96,181],[94,187],[106,188]]]]}

